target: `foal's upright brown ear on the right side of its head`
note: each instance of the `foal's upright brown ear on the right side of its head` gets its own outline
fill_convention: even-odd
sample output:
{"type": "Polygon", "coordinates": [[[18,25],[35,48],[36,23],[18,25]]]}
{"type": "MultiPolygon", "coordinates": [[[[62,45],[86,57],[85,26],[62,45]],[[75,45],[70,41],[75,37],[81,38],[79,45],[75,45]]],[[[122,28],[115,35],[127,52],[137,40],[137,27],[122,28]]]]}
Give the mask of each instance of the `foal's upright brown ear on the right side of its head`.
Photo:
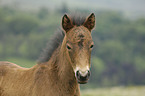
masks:
{"type": "Polygon", "coordinates": [[[94,26],[95,26],[95,15],[94,13],[92,13],[87,19],[86,21],[84,22],[83,24],[86,28],[89,29],[89,31],[91,31],[94,26]]]}

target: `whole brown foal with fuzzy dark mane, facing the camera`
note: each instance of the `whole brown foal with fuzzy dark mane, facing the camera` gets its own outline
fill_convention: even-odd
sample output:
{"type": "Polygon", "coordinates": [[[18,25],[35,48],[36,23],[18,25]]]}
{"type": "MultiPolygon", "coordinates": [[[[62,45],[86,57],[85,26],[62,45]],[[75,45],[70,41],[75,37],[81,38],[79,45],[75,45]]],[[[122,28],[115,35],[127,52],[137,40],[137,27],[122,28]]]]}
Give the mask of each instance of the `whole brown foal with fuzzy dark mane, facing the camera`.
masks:
{"type": "Polygon", "coordinates": [[[43,52],[38,64],[22,68],[0,62],[0,96],[80,96],[79,84],[90,76],[95,15],[62,18],[61,32],[43,52]]]}

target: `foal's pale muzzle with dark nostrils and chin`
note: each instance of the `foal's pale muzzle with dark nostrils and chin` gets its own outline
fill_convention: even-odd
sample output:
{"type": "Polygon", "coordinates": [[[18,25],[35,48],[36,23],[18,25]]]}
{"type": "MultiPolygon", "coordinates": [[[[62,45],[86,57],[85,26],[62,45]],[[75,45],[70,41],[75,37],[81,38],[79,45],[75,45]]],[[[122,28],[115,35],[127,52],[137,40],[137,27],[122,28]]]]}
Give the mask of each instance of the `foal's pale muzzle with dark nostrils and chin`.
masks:
{"type": "Polygon", "coordinates": [[[90,77],[90,69],[88,66],[85,68],[76,67],[74,72],[79,84],[86,84],[88,82],[90,77]]]}

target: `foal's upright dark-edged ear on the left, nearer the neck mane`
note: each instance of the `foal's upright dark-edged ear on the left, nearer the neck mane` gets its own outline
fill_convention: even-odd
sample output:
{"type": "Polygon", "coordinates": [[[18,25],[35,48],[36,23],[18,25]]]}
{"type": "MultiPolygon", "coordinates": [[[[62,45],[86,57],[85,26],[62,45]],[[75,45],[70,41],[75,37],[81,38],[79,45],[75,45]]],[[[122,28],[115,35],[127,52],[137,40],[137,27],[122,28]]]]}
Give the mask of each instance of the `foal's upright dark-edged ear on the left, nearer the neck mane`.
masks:
{"type": "Polygon", "coordinates": [[[68,32],[71,28],[73,28],[73,24],[71,19],[65,14],[62,18],[62,27],[63,29],[68,32]]]}

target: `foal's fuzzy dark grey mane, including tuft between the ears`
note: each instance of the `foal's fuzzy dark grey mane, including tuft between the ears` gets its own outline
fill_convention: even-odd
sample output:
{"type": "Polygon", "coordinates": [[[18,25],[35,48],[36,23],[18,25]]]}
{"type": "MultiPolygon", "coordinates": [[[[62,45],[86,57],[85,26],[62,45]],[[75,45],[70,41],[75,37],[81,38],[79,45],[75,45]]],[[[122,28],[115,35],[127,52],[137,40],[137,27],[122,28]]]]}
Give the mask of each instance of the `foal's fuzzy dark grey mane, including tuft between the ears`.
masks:
{"type": "MultiPolygon", "coordinates": [[[[86,17],[81,15],[71,15],[70,16],[72,22],[76,26],[81,26],[85,22],[86,17]]],[[[53,52],[61,45],[63,38],[65,36],[65,33],[62,29],[59,29],[55,35],[50,39],[50,42],[47,43],[46,48],[41,53],[40,57],[38,58],[37,62],[44,63],[49,61],[51,58],[53,52]]]]}

